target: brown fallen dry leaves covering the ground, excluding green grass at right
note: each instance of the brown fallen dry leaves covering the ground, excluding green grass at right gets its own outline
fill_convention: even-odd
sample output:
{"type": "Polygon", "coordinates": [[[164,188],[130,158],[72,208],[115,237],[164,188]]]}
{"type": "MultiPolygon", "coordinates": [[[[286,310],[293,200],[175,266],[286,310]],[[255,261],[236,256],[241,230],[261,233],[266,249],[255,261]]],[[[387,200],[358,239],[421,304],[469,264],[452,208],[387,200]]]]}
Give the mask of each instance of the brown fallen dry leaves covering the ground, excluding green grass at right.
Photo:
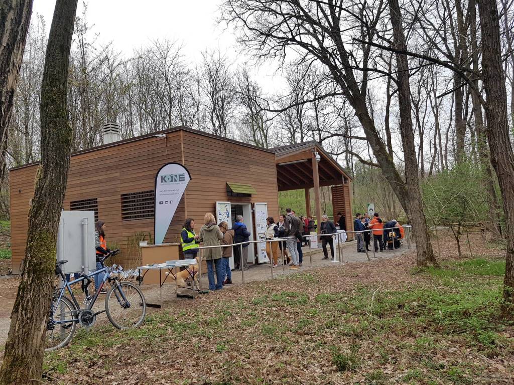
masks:
{"type": "MultiPolygon", "coordinates": [[[[470,240],[475,257],[502,253],[480,236],[470,240]]],[[[440,243],[444,245],[440,261],[456,259],[451,238],[440,243]]],[[[469,258],[466,247],[463,258],[469,258]]],[[[418,343],[416,333],[423,325],[401,335],[394,325],[390,333],[359,336],[352,332],[354,327],[362,328],[362,316],[374,317],[373,309],[369,316],[347,314],[330,296],[347,293],[350,298],[362,286],[371,287],[372,292],[433,287],[429,275],[411,274],[414,264],[413,252],[251,282],[195,301],[176,301],[170,309],[149,315],[139,330],[101,326],[77,336],[69,347],[47,357],[45,381],[84,385],[514,383],[514,357],[486,356],[463,335],[442,336],[436,348],[427,341],[426,347],[412,350],[406,347],[418,343]],[[319,305],[320,295],[328,295],[323,305],[319,305]],[[342,332],[346,329],[350,332],[342,332]],[[338,371],[331,347],[349,352],[355,345],[357,367],[338,371]],[[434,375],[431,365],[441,369],[440,375],[434,375]]],[[[365,300],[371,303],[371,296],[365,300]]],[[[501,333],[510,344],[502,349],[511,352],[513,334],[501,333]]]]}

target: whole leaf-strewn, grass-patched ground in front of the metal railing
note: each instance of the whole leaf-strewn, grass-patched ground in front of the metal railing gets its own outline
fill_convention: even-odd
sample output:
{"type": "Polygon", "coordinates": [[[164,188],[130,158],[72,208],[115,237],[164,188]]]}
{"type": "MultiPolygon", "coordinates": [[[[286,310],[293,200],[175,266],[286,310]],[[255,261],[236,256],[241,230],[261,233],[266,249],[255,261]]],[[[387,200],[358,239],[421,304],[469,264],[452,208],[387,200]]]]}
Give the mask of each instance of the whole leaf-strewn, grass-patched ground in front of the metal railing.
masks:
{"type": "MultiPolygon", "coordinates": [[[[100,323],[79,330],[68,347],[46,356],[43,381],[512,384],[514,324],[495,315],[501,274],[480,272],[488,260],[499,263],[503,246],[479,235],[461,246],[457,256],[450,237],[434,242],[440,270],[418,271],[415,251],[406,247],[355,260],[352,245],[343,251],[345,263],[313,256],[312,267],[304,260],[300,272],[282,275],[279,267],[275,279],[269,266],[253,267],[248,278],[258,279],[167,302],[139,329],[100,323]],[[458,270],[477,260],[476,274],[458,270]]],[[[0,292],[10,285],[11,297],[2,300],[8,306],[16,280],[0,285],[0,292]]],[[[155,294],[155,287],[145,290],[155,294]]]]}

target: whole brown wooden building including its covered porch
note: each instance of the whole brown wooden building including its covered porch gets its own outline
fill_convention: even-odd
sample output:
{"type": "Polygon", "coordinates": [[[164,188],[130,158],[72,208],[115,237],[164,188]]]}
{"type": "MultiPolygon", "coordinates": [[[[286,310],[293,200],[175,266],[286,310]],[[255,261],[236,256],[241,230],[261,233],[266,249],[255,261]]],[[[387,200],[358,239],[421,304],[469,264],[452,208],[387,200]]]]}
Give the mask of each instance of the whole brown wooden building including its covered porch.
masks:
{"type": "MultiPolygon", "coordinates": [[[[121,247],[124,263],[134,265],[139,241],[153,239],[155,176],[169,162],[183,164],[192,179],[164,242],[179,241],[186,218],[193,218],[199,229],[205,213],[215,213],[217,201],[231,203],[232,217],[244,215],[253,235],[255,203],[267,203],[268,214],[278,217],[278,191],[303,188],[308,195],[314,187],[319,196],[320,185],[334,186],[334,212],[344,210],[346,222],[352,223],[351,179],[315,142],[263,149],[185,127],[72,154],[63,208],[94,210],[96,219],[107,224],[108,244],[121,247]]],[[[13,272],[25,254],[37,167],[34,163],[10,170],[13,272]]],[[[319,199],[316,206],[319,215],[319,199]]]]}

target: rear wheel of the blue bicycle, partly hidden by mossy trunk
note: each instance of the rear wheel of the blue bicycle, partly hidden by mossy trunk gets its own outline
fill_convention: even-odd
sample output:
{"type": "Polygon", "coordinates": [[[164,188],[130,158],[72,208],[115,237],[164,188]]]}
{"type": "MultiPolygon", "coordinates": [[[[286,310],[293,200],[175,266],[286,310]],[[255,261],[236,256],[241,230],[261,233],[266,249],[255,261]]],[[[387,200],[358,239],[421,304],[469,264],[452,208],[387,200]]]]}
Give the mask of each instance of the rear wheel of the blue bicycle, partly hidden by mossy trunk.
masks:
{"type": "Polygon", "coordinates": [[[56,303],[59,297],[53,296],[52,305],[53,314],[48,314],[46,322],[45,351],[49,352],[65,346],[75,333],[77,323],[77,309],[75,304],[68,298],[62,296],[59,303],[56,303]],[[55,323],[56,321],[65,321],[64,323],[55,323]]]}

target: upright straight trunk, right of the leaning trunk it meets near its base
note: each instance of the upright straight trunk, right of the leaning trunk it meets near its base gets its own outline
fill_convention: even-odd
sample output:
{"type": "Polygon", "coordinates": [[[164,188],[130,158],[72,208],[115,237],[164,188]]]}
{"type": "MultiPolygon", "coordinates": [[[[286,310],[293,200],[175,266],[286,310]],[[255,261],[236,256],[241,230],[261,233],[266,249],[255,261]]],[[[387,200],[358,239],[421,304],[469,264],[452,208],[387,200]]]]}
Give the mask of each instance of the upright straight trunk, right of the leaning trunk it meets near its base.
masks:
{"type": "MultiPolygon", "coordinates": [[[[398,0],[389,0],[391,24],[393,26],[393,44],[395,48],[406,50],[405,35],[401,25],[401,13],[398,0]]],[[[437,266],[432,244],[428,234],[427,220],[423,211],[423,199],[419,189],[418,165],[411,116],[411,99],[409,85],[409,63],[407,55],[396,53],[396,70],[398,81],[398,105],[400,111],[400,132],[405,158],[405,184],[407,187],[407,215],[413,225],[416,241],[418,266],[432,263],[437,266]]]]}

